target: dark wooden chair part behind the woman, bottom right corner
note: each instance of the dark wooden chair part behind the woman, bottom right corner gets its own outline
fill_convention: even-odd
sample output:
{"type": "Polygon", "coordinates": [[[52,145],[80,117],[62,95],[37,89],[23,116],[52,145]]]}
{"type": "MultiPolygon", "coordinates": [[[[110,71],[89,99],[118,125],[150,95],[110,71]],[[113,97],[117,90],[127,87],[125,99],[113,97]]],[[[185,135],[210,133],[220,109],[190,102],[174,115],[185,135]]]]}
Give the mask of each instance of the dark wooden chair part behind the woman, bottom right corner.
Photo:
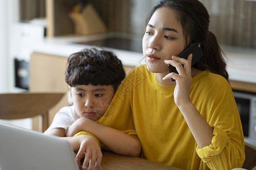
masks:
{"type": "Polygon", "coordinates": [[[245,142],[245,162],[242,168],[254,169],[256,166],[256,147],[245,142]]]}

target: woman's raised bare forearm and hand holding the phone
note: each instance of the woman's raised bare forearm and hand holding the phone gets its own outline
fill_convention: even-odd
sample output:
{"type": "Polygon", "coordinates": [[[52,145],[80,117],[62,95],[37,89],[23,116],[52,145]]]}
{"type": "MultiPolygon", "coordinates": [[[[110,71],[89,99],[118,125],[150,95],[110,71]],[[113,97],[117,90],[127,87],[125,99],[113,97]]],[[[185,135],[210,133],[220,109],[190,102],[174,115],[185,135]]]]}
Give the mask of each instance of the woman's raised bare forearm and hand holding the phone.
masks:
{"type": "Polygon", "coordinates": [[[203,148],[210,145],[213,138],[213,129],[208,122],[205,121],[204,117],[201,116],[199,111],[197,111],[190,99],[192,76],[195,76],[201,71],[192,68],[191,61],[191,54],[187,59],[172,56],[172,60],[167,60],[165,63],[176,67],[179,74],[167,74],[163,80],[171,78],[176,80],[176,87],[174,90],[175,104],[183,114],[197,145],[200,148],[203,148]],[[184,67],[182,65],[184,65],[184,67]]]}

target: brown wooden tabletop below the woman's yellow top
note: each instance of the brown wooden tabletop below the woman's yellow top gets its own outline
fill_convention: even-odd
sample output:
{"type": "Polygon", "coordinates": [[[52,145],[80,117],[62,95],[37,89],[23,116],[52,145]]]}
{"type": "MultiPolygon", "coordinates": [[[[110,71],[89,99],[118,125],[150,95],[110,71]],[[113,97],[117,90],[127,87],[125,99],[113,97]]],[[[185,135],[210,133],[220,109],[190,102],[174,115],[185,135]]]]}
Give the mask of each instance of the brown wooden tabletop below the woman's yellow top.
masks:
{"type": "Polygon", "coordinates": [[[165,164],[152,162],[147,159],[142,159],[133,156],[123,156],[114,154],[111,151],[102,151],[102,168],[104,170],[113,169],[174,169],[180,170],[180,168],[171,167],[165,164]]]}

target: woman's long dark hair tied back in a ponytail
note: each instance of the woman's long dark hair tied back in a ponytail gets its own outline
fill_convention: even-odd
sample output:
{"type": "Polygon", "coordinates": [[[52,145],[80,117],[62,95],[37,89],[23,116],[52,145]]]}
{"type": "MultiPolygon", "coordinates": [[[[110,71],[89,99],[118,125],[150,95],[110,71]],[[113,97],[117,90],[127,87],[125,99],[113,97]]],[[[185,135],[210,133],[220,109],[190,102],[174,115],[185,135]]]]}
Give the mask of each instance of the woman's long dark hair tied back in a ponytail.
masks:
{"type": "Polygon", "coordinates": [[[160,0],[148,13],[146,25],[154,12],[160,7],[171,8],[175,11],[176,18],[183,28],[185,47],[193,41],[201,43],[203,57],[193,67],[220,74],[228,80],[229,75],[222,56],[224,53],[220,49],[214,34],[209,31],[210,16],[204,5],[197,0],[160,0]]]}

